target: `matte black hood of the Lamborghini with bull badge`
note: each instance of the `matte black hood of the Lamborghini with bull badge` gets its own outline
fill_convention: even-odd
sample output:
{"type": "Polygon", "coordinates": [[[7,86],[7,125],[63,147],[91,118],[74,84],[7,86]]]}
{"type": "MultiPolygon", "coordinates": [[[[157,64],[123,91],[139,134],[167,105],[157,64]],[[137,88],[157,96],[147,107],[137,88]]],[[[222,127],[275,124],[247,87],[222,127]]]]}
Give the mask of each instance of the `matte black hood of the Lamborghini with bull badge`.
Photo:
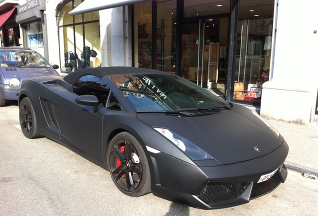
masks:
{"type": "Polygon", "coordinates": [[[150,126],[173,130],[220,164],[257,158],[274,151],[281,144],[262,120],[241,105],[201,116],[138,113],[137,117],[150,126]],[[259,151],[255,150],[255,146],[259,151]]]}

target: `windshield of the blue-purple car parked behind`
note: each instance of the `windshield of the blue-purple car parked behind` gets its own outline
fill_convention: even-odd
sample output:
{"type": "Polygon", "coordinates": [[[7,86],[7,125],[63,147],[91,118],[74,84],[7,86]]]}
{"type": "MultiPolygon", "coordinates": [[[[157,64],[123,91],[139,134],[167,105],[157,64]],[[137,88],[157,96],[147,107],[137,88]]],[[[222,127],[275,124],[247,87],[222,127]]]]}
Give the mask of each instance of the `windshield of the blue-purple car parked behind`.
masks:
{"type": "Polygon", "coordinates": [[[50,67],[43,57],[33,50],[0,50],[1,66],[50,67]]]}

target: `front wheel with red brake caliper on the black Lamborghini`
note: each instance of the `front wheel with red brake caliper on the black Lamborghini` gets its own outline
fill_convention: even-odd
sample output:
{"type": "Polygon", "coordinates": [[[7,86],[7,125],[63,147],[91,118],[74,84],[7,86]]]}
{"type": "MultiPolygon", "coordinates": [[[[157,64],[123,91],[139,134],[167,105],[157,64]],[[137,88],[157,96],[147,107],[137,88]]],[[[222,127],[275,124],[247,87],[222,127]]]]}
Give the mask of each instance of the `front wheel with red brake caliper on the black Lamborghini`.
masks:
{"type": "Polygon", "coordinates": [[[150,192],[149,164],[133,135],[128,132],[115,135],[109,142],[107,156],[111,178],[121,192],[128,196],[150,192]]]}

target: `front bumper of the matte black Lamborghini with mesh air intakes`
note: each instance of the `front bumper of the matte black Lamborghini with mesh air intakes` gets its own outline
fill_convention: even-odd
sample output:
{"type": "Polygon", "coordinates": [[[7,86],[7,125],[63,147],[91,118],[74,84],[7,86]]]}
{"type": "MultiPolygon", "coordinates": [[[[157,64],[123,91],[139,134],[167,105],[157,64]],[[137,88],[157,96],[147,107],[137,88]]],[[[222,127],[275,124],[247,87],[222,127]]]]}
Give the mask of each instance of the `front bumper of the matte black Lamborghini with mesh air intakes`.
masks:
{"type": "Polygon", "coordinates": [[[153,165],[151,191],[154,195],[190,206],[213,209],[247,203],[274,190],[287,177],[283,164],[288,145],[252,160],[208,167],[197,167],[169,155],[150,156],[153,165]],[[276,170],[268,180],[260,176],[276,170]]]}

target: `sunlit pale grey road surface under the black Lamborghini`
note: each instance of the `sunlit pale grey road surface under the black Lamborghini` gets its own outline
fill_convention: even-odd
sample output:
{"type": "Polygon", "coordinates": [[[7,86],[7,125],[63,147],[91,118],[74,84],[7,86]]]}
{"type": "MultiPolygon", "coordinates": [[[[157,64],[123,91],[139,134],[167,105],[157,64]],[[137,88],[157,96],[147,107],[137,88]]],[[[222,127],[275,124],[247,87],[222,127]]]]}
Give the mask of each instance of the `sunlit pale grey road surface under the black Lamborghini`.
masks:
{"type": "MultiPolygon", "coordinates": [[[[195,183],[195,182],[193,182],[195,183]]],[[[202,210],[152,193],[129,197],[105,169],[47,138],[27,139],[18,107],[0,107],[0,215],[318,215],[318,180],[286,182],[247,204],[202,210]]]]}

